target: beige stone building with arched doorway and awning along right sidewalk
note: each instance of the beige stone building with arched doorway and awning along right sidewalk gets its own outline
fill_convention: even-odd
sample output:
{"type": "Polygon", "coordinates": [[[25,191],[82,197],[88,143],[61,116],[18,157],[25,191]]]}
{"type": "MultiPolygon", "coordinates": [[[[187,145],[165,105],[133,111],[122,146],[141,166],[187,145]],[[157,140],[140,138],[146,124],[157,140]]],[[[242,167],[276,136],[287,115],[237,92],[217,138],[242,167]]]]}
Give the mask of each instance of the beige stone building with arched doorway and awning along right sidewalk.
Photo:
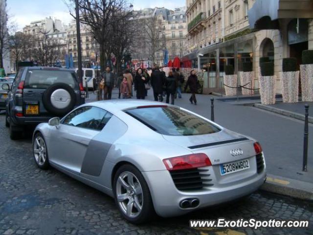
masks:
{"type": "Polygon", "coordinates": [[[188,53],[183,62],[208,71],[204,93],[223,90],[225,65],[233,65],[240,75],[242,63],[248,61],[253,63],[257,88],[259,59],[263,56],[275,64],[280,92],[282,59],[296,57],[301,64],[302,51],[313,48],[313,0],[187,0],[186,3],[188,53]],[[212,13],[218,16],[209,23],[212,13]]]}

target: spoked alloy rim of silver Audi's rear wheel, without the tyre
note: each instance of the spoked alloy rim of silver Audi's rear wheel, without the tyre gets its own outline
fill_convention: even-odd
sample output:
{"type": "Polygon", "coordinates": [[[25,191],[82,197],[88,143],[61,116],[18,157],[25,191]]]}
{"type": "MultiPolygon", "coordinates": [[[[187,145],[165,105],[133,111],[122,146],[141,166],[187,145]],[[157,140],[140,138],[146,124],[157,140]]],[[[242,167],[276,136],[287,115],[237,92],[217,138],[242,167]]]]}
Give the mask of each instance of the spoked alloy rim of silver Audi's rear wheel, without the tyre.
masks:
{"type": "Polygon", "coordinates": [[[118,176],[116,197],[125,215],[135,218],[140,214],[143,206],[143,193],[139,180],[132,172],[125,171],[118,176]]]}

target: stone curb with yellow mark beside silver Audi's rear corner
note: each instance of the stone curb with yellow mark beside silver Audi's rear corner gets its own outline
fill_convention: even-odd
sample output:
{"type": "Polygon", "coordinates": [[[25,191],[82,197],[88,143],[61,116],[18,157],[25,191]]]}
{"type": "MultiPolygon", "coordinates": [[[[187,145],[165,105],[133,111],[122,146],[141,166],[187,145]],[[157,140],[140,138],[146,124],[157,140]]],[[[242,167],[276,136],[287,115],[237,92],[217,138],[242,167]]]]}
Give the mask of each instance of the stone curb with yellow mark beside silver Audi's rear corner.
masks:
{"type": "Polygon", "coordinates": [[[261,190],[313,201],[313,183],[268,174],[261,190]]]}

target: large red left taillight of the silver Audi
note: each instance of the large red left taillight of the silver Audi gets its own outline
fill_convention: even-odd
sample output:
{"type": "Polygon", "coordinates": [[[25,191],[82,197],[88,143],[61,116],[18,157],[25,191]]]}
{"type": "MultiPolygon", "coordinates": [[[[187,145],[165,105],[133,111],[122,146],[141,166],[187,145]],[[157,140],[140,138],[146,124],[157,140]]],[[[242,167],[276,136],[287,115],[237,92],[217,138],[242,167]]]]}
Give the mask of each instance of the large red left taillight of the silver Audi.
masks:
{"type": "Polygon", "coordinates": [[[163,163],[165,164],[166,169],[169,171],[212,165],[210,159],[204,153],[167,158],[163,159],[163,163]]]}

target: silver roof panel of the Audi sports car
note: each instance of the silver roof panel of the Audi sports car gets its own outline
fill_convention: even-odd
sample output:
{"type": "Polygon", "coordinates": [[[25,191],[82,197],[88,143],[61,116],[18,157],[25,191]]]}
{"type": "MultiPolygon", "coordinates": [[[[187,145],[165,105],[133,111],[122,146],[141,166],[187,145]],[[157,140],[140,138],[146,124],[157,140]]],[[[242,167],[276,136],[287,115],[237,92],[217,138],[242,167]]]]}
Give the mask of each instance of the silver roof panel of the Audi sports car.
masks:
{"type": "Polygon", "coordinates": [[[140,106],[168,106],[166,103],[160,103],[156,101],[150,100],[120,100],[120,99],[111,99],[111,100],[102,100],[96,102],[86,103],[84,106],[96,106],[102,109],[105,109],[111,113],[115,113],[117,111],[137,108],[140,106]]]}

